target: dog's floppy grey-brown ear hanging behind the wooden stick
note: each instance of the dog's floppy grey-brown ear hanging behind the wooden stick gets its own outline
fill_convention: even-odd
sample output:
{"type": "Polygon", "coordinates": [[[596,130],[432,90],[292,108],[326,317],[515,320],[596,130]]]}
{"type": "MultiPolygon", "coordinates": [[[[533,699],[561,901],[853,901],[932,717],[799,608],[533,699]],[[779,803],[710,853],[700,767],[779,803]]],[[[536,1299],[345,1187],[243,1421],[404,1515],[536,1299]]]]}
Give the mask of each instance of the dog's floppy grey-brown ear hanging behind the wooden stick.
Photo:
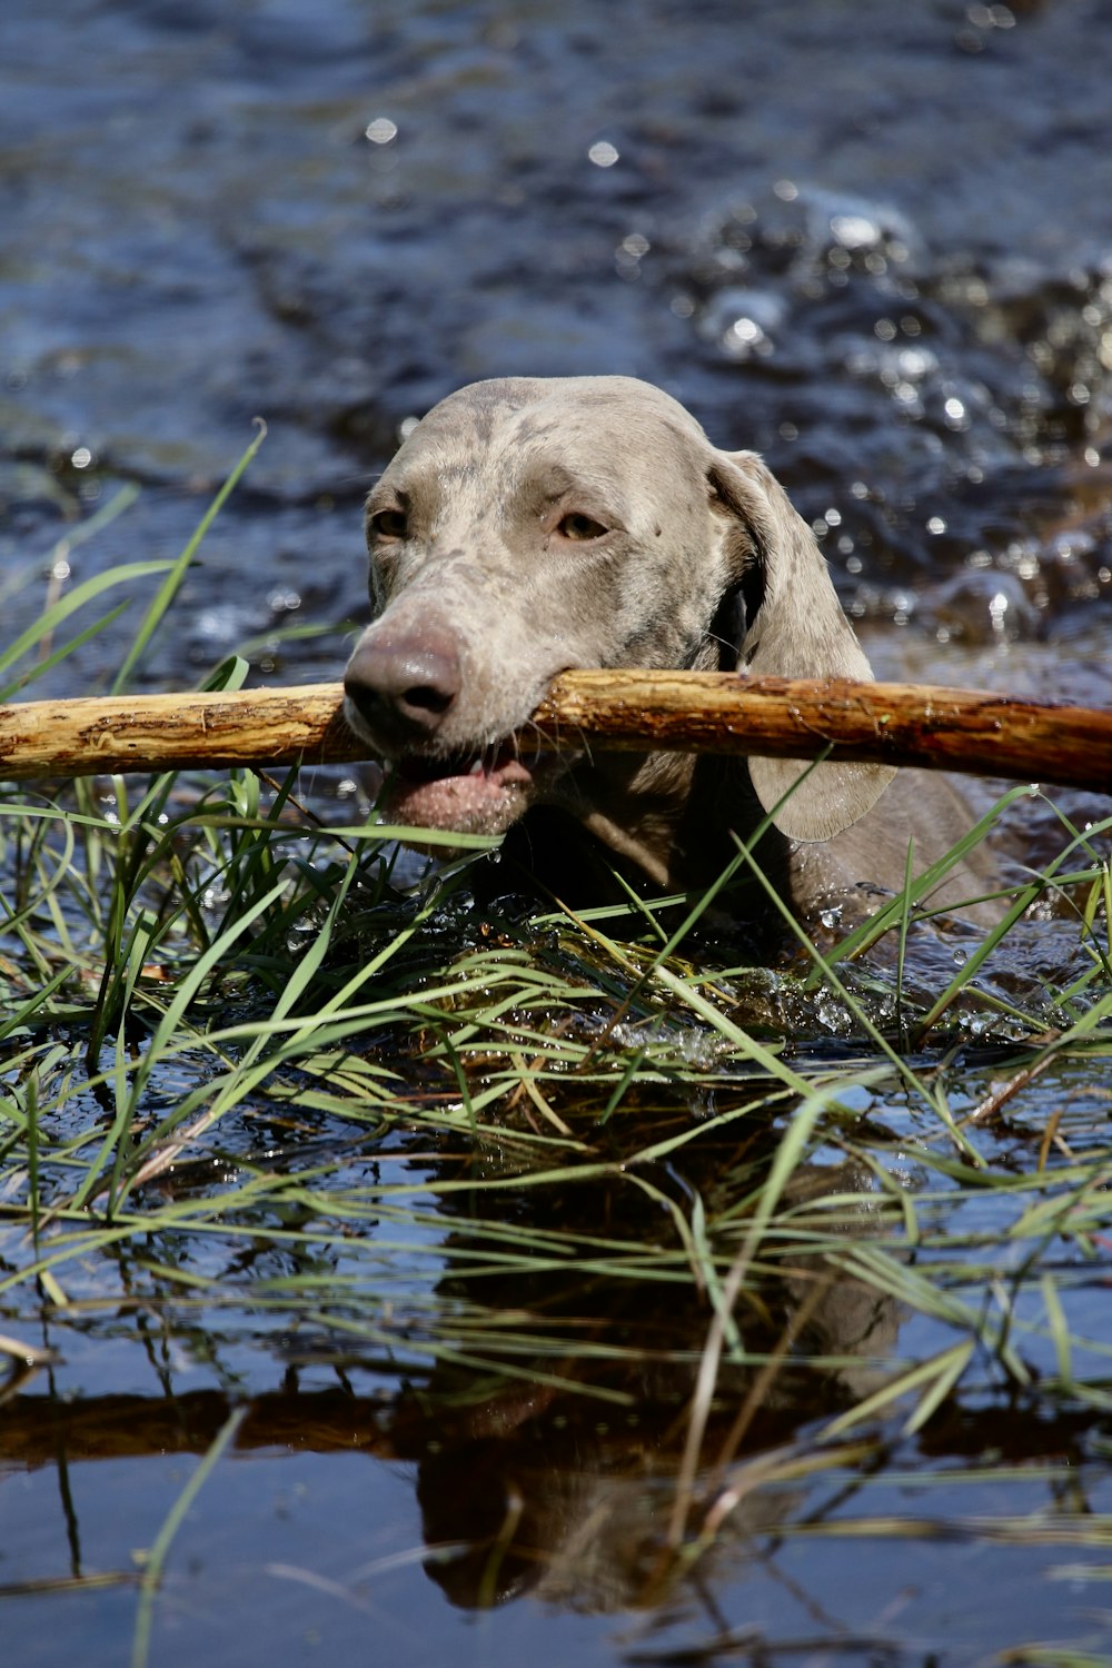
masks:
{"type": "MultiPolygon", "coordinates": [[[[710,487],[734,522],[727,539],[747,597],[739,672],[872,681],[814,534],[775,475],[755,452],[714,452],[710,487]]],[[[797,759],[749,761],[760,804],[775,812],[775,826],[789,839],[840,834],[864,817],[895,774],[880,764],[829,762],[805,776],[807,769],[797,759]]]]}

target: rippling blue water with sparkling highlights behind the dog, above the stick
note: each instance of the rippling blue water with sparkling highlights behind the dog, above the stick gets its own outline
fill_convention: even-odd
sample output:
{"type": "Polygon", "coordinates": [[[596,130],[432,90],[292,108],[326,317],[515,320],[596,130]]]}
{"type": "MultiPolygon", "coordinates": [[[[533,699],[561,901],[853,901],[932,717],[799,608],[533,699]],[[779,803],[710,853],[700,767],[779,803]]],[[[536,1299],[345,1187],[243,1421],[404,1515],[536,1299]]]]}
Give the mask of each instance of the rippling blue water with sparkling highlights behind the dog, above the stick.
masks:
{"type": "MultiPolygon", "coordinates": [[[[997,10],[73,3],[47,25],[15,0],[12,620],[118,480],[143,497],[73,577],[177,554],[262,415],[145,676],[192,681],[292,614],[337,622],[405,417],[482,375],[610,370],[764,449],[827,517],[855,610],[912,617],[909,652],[1069,641],[1100,681],[1109,18],[997,10]]],[[[110,664],[102,646],[58,684],[110,664]]]]}

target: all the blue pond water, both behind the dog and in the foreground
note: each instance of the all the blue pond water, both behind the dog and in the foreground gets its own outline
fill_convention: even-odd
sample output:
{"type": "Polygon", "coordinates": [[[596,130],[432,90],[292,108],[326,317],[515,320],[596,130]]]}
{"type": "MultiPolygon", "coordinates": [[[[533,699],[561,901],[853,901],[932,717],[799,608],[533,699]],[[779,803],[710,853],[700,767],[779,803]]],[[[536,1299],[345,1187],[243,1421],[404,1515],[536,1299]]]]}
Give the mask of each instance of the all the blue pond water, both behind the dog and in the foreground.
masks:
{"type": "MultiPolygon", "coordinates": [[[[0,38],[0,649],[177,555],[262,417],[137,681],[235,649],[332,679],[405,419],[483,375],[632,372],[765,452],[879,669],[1112,704],[1102,0],[8,0],[0,38]]],[[[153,585],[28,694],[107,689],[153,585]]],[[[1044,802],[1009,821],[1057,849],[1044,802]]],[[[28,1233],[28,1164],[70,1198],[65,1144],[112,1114],[58,1096],[37,1153],[27,1039],[0,1042],[27,1119],[0,1123],[0,1333],[43,1351],[0,1356],[13,1656],[142,1660],[150,1623],[165,1668],[1112,1658],[1107,1021],[1024,1081],[1012,1053],[1107,991],[1099,921],[1024,922],[990,1022],[967,1004],[914,1058],[954,1128],[839,1002],[722,946],[725,1031],[617,1012],[629,969],[562,927],[490,931],[445,911],[407,977],[452,967],[450,1012],[478,957],[510,1054],[557,971],[605,991],[532,1109],[383,997],[367,1054],[408,1121],[375,1121],[370,1068],[298,1058],[112,1223],[28,1233]],[[772,1238],[790,1119],[750,1116],[772,1068],[729,1014],[830,1086],[772,1238]]],[[[917,947],[920,1007],[970,947],[917,947]]],[[[882,1026],[885,991],[862,976],[882,1026]]],[[[142,1116],[208,1079],[175,1056],[142,1116]]]]}

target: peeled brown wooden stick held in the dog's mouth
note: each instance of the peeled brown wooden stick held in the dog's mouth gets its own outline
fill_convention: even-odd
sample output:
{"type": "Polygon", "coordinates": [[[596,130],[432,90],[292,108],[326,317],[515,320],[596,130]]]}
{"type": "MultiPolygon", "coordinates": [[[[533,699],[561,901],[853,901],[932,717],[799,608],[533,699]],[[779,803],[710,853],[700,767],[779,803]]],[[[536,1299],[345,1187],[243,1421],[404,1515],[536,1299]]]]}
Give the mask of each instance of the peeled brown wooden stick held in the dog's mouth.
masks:
{"type": "MultiPolygon", "coordinates": [[[[0,707],[0,779],[340,764],[368,749],[340,684],[0,707]]],[[[1112,792],[1112,712],[929,684],[565,672],[522,731],[545,749],[679,749],[969,771],[1112,792]]]]}

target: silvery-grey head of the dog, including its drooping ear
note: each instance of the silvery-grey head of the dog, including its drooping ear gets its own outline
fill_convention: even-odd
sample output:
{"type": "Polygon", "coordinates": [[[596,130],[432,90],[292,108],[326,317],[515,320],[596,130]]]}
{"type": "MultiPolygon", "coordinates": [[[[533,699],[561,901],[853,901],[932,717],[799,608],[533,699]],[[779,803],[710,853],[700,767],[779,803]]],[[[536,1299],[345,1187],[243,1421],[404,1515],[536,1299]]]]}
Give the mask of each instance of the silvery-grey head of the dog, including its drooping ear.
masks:
{"type": "MultiPolygon", "coordinates": [[[[390,809],[415,826],[500,832],[559,797],[574,757],[528,754],[518,732],[572,667],[870,676],[810,529],[760,459],[715,450],[630,377],[453,394],[372,490],[367,540],[377,619],[345,709],[395,764],[390,809]]],[[[890,774],[822,764],[789,794],[805,766],[749,767],[804,841],[854,822],[890,774]]]]}

